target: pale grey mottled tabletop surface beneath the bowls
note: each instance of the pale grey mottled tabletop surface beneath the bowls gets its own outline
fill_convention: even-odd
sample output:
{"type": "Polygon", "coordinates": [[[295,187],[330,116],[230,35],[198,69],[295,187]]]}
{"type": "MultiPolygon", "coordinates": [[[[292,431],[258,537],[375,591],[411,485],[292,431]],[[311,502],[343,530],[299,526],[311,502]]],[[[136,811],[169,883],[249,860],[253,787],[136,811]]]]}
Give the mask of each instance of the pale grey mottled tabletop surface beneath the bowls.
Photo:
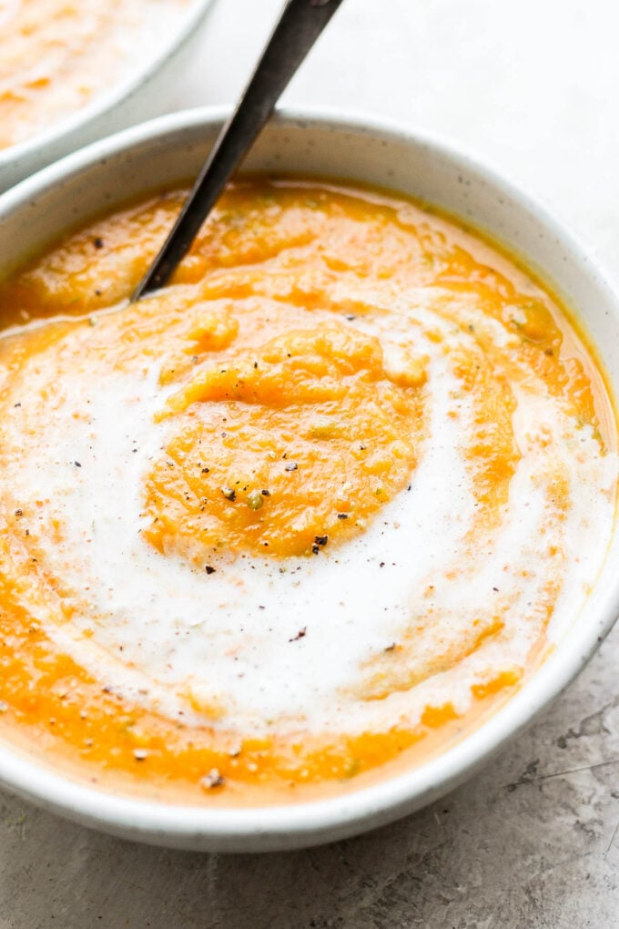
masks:
{"type": "MultiPolygon", "coordinates": [[[[279,0],[219,0],[178,104],[231,100],[279,0]]],[[[347,0],[287,94],[438,132],[619,271],[614,0],[347,0]]],[[[528,733],[386,829],[293,854],[125,843],[0,793],[0,929],[619,926],[619,628],[528,733]]]]}

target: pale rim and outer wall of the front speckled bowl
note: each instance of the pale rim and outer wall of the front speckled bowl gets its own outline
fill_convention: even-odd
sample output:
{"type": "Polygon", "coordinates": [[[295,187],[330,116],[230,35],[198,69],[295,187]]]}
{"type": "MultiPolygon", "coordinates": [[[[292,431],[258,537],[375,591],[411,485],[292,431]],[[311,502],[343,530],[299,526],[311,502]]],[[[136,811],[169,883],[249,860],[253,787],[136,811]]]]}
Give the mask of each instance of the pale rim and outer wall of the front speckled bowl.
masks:
{"type": "MultiPolygon", "coordinates": [[[[3,216],[25,207],[55,183],[71,180],[90,165],[108,161],[115,155],[122,156],[141,143],[168,137],[173,139],[175,134],[194,127],[203,126],[205,131],[218,129],[228,115],[227,107],[180,111],[100,139],[0,195],[0,221],[3,216]]],[[[619,319],[619,299],[590,251],[574,238],[547,206],[538,203],[477,156],[471,156],[436,135],[412,130],[368,113],[296,107],[278,110],[274,121],[278,126],[327,129],[400,142],[415,149],[424,147],[443,157],[464,175],[481,178],[492,190],[509,197],[517,207],[534,216],[544,229],[570,250],[573,260],[594,281],[613,316],[619,319]]],[[[500,242],[498,236],[495,239],[500,242]]],[[[511,252],[520,254],[513,248],[511,252]]],[[[616,395],[619,372],[614,379],[609,376],[609,380],[616,395]]],[[[616,537],[615,525],[611,545],[616,543],[616,537]]],[[[607,572],[608,563],[607,556],[600,576],[607,572]]],[[[211,809],[206,805],[169,804],[129,795],[116,796],[76,782],[69,776],[24,758],[18,752],[12,752],[9,743],[0,745],[0,782],[37,805],[84,825],[170,847],[259,851],[306,847],[344,838],[384,825],[431,803],[470,777],[509,739],[529,726],[535,715],[545,709],[580,672],[612,629],[619,614],[619,577],[607,583],[603,590],[598,584],[591,598],[595,600],[594,621],[588,624],[574,622],[561,647],[554,650],[496,713],[432,760],[404,773],[387,776],[368,787],[353,788],[350,792],[325,799],[285,805],[211,809]]]]}

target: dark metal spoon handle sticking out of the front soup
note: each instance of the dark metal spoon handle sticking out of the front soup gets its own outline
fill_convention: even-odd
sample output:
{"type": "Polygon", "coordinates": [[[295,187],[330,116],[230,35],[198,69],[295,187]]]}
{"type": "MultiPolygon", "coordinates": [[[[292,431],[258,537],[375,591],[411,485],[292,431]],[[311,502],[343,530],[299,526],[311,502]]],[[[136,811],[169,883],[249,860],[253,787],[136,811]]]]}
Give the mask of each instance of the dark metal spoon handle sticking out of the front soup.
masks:
{"type": "Polygon", "coordinates": [[[288,0],[237,109],[217,137],[172,231],[138,284],[132,302],[170,280],[227,180],[273,112],[277,99],[341,3],[342,0],[288,0]]]}

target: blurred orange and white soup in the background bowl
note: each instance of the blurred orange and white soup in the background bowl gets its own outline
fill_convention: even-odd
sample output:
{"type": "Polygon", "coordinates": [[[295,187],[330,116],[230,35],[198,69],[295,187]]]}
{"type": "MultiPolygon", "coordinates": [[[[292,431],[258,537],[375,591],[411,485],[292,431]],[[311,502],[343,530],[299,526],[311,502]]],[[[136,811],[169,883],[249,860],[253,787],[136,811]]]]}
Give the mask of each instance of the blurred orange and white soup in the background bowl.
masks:
{"type": "Polygon", "coordinates": [[[35,136],[161,46],[187,0],[0,0],[0,149],[35,136]]]}

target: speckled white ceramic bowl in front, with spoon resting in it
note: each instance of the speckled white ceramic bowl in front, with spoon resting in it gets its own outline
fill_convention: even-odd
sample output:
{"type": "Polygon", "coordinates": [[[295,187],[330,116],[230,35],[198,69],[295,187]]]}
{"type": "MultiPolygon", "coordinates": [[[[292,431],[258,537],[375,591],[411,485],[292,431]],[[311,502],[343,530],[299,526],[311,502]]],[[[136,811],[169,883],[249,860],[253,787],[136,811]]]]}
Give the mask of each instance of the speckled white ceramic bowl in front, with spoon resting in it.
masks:
{"type": "MultiPolygon", "coordinates": [[[[226,114],[162,117],[78,151],[0,197],[3,271],[128,197],[198,169],[226,114]]],[[[466,155],[393,125],[279,112],[249,156],[251,170],[368,181],[413,194],[489,232],[534,268],[586,321],[619,394],[619,303],[583,248],[539,204],[466,155]]],[[[100,792],[0,746],[0,780],[39,805],[127,838],[181,848],[265,851],[318,844],[380,826],[471,777],[583,667],[619,612],[619,534],[586,608],[509,703],[459,744],[406,774],[336,799],[210,810],[100,792]]]]}

